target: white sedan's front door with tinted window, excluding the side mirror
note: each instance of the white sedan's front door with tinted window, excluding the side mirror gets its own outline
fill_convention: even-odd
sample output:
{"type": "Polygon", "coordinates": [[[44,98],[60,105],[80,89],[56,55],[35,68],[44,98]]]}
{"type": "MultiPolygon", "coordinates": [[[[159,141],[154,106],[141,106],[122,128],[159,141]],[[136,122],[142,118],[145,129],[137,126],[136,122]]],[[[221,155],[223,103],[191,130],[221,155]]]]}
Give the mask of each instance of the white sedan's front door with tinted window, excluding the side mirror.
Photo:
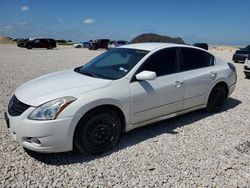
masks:
{"type": "Polygon", "coordinates": [[[176,48],[168,48],[150,56],[139,68],[156,73],[155,80],[130,83],[132,123],[137,124],[183,109],[184,85],[179,78],[176,48]]]}

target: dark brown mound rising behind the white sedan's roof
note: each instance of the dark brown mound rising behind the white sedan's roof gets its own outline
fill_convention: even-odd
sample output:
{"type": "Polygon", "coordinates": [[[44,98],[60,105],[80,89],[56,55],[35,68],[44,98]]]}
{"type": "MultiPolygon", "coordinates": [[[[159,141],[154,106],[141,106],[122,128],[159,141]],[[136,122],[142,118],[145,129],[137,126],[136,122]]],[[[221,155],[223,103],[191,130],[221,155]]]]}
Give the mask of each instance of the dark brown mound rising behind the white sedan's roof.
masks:
{"type": "Polygon", "coordinates": [[[185,42],[180,37],[172,38],[169,36],[163,36],[154,33],[142,34],[131,40],[131,43],[141,43],[141,42],[168,42],[168,43],[185,44],[185,42]]]}

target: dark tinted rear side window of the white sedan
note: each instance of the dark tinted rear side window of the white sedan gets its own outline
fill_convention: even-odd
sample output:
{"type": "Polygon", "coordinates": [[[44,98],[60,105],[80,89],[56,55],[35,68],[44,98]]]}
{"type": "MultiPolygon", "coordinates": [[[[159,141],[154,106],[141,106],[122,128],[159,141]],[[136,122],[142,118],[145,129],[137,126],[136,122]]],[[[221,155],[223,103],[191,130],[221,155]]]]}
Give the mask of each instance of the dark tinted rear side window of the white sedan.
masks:
{"type": "Polygon", "coordinates": [[[201,50],[181,48],[182,62],[181,71],[199,69],[214,65],[214,57],[201,50]]]}

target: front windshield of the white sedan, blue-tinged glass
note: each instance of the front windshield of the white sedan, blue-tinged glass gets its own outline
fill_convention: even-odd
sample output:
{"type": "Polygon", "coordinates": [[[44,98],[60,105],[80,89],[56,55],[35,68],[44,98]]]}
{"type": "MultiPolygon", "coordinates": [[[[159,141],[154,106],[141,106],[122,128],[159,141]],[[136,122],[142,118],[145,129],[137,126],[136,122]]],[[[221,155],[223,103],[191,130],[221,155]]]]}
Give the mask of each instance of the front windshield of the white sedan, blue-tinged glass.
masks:
{"type": "Polygon", "coordinates": [[[116,80],[125,76],[147,53],[145,50],[115,48],[75,71],[96,78],[116,80]]]}

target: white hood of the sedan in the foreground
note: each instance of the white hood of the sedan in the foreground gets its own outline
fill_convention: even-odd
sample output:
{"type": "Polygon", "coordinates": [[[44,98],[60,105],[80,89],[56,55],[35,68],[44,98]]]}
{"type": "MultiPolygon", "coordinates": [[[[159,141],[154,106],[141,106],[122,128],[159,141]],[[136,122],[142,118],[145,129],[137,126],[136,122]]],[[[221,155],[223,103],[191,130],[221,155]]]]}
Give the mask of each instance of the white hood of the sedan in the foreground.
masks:
{"type": "Polygon", "coordinates": [[[77,96],[91,90],[107,87],[112,80],[93,78],[76,73],[73,69],[38,77],[21,85],[16,97],[25,104],[39,106],[47,101],[77,96]]]}

